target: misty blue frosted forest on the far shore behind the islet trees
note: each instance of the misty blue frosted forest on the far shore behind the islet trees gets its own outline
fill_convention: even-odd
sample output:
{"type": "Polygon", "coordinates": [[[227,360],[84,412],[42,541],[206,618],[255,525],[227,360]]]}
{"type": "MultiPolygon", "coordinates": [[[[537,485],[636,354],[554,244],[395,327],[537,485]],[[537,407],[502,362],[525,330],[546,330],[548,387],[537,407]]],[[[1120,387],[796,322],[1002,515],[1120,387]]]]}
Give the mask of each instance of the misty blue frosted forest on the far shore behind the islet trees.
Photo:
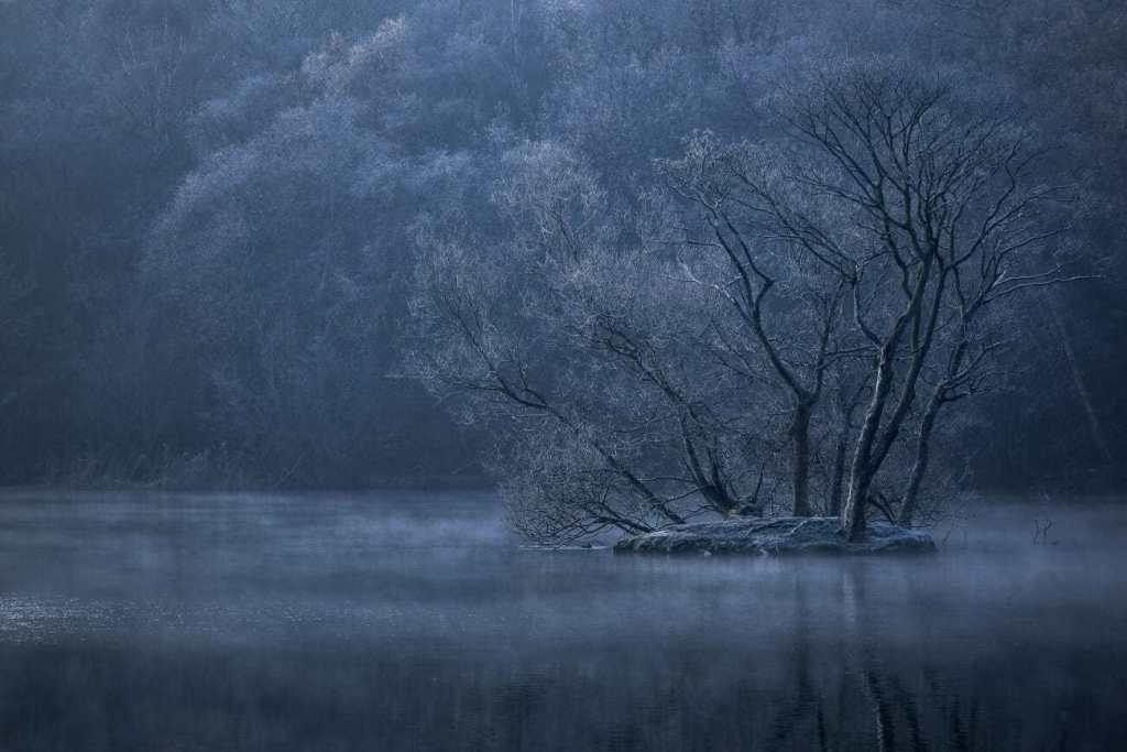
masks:
{"type": "Polygon", "coordinates": [[[864,55],[1020,100],[1106,259],[1029,308],[975,483],[1121,483],[1115,0],[0,0],[0,483],[481,483],[488,436],[399,377],[419,218],[499,231],[530,139],[635,185],[864,55]]]}

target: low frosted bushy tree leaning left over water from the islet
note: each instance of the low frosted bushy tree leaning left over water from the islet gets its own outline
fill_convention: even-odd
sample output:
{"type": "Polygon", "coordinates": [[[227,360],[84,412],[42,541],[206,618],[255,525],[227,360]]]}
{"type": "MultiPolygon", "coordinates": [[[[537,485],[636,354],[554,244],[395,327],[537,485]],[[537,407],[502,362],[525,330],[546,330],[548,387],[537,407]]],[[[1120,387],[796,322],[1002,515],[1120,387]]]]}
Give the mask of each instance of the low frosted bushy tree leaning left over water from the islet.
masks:
{"type": "Polygon", "coordinates": [[[755,508],[771,487],[751,459],[756,410],[709,352],[708,301],[566,150],[503,161],[498,254],[451,239],[449,221],[420,238],[415,311],[433,346],[416,372],[476,397],[470,419],[504,423],[517,528],[566,542],[755,508]]]}

